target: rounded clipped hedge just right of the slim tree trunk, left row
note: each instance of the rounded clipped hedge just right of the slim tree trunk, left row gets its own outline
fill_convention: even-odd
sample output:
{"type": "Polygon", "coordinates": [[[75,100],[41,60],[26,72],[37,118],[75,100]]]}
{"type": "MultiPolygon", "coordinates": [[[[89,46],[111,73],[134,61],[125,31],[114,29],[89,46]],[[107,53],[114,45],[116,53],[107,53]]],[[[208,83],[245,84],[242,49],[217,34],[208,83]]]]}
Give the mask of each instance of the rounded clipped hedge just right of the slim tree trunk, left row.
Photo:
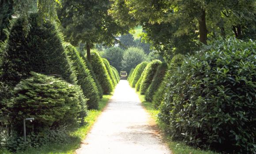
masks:
{"type": "Polygon", "coordinates": [[[101,84],[103,94],[110,94],[113,92],[113,84],[111,83],[111,79],[109,77],[109,73],[103,63],[101,57],[97,52],[91,52],[91,66],[96,75],[97,80],[101,84]]]}

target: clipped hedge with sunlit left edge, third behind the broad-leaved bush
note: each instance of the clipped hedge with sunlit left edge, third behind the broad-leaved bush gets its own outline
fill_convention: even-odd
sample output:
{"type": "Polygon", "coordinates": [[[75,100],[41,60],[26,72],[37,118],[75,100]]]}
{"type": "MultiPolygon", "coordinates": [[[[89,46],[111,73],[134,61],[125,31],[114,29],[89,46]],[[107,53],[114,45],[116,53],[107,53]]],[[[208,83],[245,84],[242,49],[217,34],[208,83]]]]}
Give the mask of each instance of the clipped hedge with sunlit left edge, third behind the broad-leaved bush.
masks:
{"type": "Polygon", "coordinates": [[[150,62],[147,67],[145,68],[146,72],[143,75],[143,78],[141,80],[141,84],[139,87],[139,93],[144,94],[147,91],[147,88],[152,82],[152,79],[154,77],[154,74],[157,70],[157,67],[161,64],[160,60],[153,60],[150,62]]]}

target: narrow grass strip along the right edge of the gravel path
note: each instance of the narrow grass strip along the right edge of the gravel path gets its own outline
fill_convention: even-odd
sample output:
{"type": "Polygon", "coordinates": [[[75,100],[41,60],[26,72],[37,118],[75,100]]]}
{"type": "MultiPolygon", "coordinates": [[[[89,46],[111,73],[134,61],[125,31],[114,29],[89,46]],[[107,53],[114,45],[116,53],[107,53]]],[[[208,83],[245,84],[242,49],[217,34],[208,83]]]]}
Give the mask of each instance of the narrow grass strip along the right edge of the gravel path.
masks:
{"type": "MultiPolygon", "coordinates": [[[[155,109],[152,103],[145,101],[144,95],[139,94],[139,92],[137,92],[137,94],[139,95],[139,99],[142,102],[143,107],[148,111],[148,113],[151,115],[154,121],[156,121],[156,124],[160,131],[164,132],[165,125],[157,119],[159,110],[155,109]]],[[[218,154],[216,152],[209,150],[205,151],[201,149],[196,149],[188,145],[185,145],[184,143],[181,142],[174,142],[166,133],[163,134],[163,139],[169,146],[169,149],[172,151],[172,154],[218,154]]]]}

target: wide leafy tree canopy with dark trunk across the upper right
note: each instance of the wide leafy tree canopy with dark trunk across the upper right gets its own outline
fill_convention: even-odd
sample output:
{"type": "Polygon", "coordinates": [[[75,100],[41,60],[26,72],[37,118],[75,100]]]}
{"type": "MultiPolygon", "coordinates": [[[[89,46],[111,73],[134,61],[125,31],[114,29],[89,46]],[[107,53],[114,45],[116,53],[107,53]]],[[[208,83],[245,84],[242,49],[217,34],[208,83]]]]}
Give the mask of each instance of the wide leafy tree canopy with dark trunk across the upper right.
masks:
{"type": "Polygon", "coordinates": [[[255,32],[255,10],[254,0],[115,0],[110,12],[123,24],[141,24],[143,28],[178,21],[174,36],[194,31],[200,42],[207,44],[210,37],[225,37],[232,29],[236,37],[255,32]],[[129,23],[127,19],[131,19],[129,23]]]}

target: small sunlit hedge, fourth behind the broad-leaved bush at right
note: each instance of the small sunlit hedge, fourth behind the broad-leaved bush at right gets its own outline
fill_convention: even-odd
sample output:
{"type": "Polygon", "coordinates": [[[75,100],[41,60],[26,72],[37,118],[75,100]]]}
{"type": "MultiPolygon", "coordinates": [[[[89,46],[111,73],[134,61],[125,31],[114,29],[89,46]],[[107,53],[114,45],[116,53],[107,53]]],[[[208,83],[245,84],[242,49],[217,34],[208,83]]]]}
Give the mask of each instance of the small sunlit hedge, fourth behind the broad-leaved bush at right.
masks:
{"type": "Polygon", "coordinates": [[[139,78],[142,77],[143,70],[146,68],[147,64],[148,62],[142,62],[136,66],[132,80],[130,81],[132,88],[135,88],[139,78]]]}

